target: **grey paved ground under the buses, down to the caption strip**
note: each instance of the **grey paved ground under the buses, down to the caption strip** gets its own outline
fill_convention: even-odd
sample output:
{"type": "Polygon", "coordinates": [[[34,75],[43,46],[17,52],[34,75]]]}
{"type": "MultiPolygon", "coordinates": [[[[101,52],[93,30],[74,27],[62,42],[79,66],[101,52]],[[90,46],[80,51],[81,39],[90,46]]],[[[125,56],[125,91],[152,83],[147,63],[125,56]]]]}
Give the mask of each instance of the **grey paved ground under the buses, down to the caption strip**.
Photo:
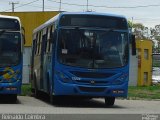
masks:
{"type": "Polygon", "coordinates": [[[0,103],[0,113],[41,114],[159,114],[160,101],[116,100],[110,108],[104,107],[103,99],[70,102],[51,105],[34,97],[19,96],[16,104],[0,103]]]}

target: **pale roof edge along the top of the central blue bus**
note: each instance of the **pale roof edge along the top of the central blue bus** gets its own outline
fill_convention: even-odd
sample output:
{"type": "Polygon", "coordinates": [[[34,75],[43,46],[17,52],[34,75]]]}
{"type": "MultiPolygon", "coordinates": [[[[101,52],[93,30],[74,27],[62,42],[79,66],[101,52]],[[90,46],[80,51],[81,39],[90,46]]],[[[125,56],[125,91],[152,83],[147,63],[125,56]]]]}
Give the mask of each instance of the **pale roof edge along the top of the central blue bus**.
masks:
{"type": "MultiPolygon", "coordinates": [[[[58,15],[54,16],[50,20],[46,21],[44,24],[40,25],[39,27],[35,28],[33,33],[45,28],[46,26],[52,24],[54,21],[58,20],[63,15],[99,15],[99,16],[110,16],[110,17],[117,17],[117,18],[125,18],[123,15],[116,15],[116,14],[109,14],[109,13],[98,13],[98,12],[62,12],[58,15]]],[[[126,19],[126,18],[125,18],[126,19]]]]}

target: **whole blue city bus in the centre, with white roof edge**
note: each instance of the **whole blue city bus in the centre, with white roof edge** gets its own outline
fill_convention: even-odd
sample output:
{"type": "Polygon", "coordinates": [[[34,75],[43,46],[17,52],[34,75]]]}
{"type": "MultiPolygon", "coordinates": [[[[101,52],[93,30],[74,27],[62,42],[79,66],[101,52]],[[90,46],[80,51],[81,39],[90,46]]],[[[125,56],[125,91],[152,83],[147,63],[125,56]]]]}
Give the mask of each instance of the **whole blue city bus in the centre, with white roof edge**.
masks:
{"type": "Polygon", "coordinates": [[[115,97],[127,97],[130,43],[134,55],[135,37],[123,16],[62,12],[33,31],[32,91],[51,101],[105,98],[112,106],[115,97]]]}

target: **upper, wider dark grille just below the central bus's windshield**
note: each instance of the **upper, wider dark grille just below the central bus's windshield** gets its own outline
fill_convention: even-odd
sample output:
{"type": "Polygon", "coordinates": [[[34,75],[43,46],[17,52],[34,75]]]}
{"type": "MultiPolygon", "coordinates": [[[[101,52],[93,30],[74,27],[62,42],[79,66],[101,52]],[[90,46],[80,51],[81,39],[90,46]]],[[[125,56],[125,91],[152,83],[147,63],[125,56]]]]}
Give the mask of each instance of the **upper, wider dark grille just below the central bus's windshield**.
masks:
{"type": "Polygon", "coordinates": [[[82,77],[82,78],[108,78],[114,75],[114,73],[77,72],[77,71],[71,71],[71,73],[77,77],[82,77]]]}

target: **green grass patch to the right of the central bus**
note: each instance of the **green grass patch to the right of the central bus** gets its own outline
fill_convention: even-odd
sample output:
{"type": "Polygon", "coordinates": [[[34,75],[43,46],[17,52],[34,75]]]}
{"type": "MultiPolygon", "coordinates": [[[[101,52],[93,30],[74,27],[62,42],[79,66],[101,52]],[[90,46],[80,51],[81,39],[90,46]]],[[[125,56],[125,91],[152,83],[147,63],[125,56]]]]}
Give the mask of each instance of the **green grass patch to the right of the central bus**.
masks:
{"type": "Polygon", "coordinates": [[[128,99],[160,99],[160,85],[157,86],[143,86],[143,87],[129,87],[128,99]]]}

